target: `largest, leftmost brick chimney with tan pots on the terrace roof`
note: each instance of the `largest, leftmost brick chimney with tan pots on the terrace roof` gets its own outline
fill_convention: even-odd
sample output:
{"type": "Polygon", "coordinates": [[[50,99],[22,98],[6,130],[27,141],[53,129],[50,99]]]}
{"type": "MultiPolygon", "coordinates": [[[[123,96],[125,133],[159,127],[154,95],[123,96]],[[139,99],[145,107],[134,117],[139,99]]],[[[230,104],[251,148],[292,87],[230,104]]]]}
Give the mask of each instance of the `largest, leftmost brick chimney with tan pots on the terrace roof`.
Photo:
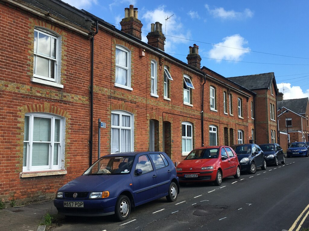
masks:
{"type": "Polygon", "coordinates": [[[121,31],[131,34],[133,37],[142,39],[142,22],[138,20],[138,8],[133,8],[133,5],[130,5],[130,8],[125,8],[125,18],[120,22],[121,31]]]}

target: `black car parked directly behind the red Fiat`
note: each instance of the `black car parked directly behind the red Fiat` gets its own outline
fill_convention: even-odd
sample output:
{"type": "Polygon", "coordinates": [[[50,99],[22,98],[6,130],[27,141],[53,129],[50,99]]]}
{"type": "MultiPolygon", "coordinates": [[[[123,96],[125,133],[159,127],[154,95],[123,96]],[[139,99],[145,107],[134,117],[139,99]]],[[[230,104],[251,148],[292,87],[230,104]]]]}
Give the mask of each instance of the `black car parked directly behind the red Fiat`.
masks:
{"type": "Polygon", "coordinates": [[[233,148],[237,154],[241,172],[255,174],[256,168],[261,167],[262,170],[266,169],[267,165],[264,152],[259,145],[235,144],[231,145],[231,148],[233,148]]]}

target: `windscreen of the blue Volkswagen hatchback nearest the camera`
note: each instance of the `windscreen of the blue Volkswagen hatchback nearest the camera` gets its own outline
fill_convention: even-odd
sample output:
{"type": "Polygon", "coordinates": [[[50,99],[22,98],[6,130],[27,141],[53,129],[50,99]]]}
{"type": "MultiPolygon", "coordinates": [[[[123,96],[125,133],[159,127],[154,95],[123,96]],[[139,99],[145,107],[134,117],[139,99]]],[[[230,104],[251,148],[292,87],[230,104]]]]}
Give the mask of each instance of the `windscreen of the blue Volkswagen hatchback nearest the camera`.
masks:
{"type": "Polygon", "coordinates": [[[92,164],[83,175],[129,174],[134,156],[106,156],[92,164]]]}

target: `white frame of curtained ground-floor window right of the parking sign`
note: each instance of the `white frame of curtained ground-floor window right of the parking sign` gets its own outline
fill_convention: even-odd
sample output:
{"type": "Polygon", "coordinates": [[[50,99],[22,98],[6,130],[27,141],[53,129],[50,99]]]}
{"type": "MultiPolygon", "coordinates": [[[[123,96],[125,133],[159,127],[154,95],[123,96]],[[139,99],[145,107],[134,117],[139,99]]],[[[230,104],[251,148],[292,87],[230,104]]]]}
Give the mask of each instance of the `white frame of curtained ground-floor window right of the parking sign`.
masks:
{"type": "Polygon", "coordinates": [[[127,112],[127,111],[121,111],[121,110],[114,110],[111,112],[112,114],[119,115],[119,125],[112,125],[112,118],[111,118],[111,153],[119,153],[124,152],[122,150],[121,144],[123,143],[122,137],[121,137],[121,131],[122,130],[129,130],[130,131],[130,152],[134,151],[134,115],[127,112]],[[130,117],[130,127],[122,126],[122,115],[129,116],[130,117]],[[119,152],[112,152],[112,128],[119,130],[119,152]]]}

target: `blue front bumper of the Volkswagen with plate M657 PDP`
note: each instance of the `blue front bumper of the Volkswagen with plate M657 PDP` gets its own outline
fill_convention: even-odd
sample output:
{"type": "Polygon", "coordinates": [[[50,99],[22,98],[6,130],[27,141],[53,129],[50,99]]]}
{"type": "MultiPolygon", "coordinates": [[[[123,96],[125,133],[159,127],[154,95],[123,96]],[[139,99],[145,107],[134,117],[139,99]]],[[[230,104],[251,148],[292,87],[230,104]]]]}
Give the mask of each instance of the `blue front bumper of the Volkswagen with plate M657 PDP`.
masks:
{"type": "Polygon", "coordinates": [[[58,214],[67,216],[107,216],[115,213],[117,197],[104,199],[54,199],[58,214]],[[84,207],[64,207],[64,202],[83,202],[84,207]]]}

